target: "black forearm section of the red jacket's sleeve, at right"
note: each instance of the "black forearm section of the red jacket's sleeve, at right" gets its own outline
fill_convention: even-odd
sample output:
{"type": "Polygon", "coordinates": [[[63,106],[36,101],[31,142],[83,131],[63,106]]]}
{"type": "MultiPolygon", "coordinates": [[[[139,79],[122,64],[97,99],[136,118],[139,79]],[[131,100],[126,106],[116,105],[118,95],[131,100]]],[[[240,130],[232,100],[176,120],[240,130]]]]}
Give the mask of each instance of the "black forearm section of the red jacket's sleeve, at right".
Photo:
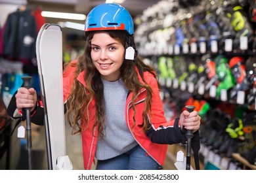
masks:
{"type": "Polygon", "coordinates": [[[158,144],[177,144],[182,142],[184,138],[179,127],[179,118],[175,119],[174,126],[164,127],[160,125],[158,129],[154,129],[151,125],[146,131],[146,136],[149,137],[152,142],[158,144]]]}

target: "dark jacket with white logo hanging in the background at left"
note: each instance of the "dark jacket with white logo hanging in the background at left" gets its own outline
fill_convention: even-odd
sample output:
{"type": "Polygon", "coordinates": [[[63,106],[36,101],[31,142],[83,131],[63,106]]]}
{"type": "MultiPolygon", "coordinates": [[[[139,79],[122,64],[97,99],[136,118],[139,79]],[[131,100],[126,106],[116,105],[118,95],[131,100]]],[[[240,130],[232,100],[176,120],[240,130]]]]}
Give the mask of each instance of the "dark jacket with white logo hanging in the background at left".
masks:
{"type": "Polygon", "coordinates": [[[3,56],[18,60],[35,58],[36,37],[37,25],[30,9],[12,12],[3,33],[3,56]]]}

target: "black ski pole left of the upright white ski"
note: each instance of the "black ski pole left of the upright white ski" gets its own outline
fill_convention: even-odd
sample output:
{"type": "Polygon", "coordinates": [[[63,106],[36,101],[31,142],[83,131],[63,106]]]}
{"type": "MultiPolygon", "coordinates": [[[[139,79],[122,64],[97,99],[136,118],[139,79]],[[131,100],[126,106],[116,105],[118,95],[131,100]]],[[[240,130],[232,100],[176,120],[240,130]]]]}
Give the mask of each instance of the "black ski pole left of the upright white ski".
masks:
{"type": "MultiPolygon", "coordinates": [[[[23,76],[24,88],[30,88],[30,80],[32,76],[23,76]]],[[[28,148],[28,169],[32,170],[32,135],[31,135],[31,121],[30,121],[30,110],[31,107],[24,108],[26,111],[26,126],[27,126],[27,148],[28,148]]]]}

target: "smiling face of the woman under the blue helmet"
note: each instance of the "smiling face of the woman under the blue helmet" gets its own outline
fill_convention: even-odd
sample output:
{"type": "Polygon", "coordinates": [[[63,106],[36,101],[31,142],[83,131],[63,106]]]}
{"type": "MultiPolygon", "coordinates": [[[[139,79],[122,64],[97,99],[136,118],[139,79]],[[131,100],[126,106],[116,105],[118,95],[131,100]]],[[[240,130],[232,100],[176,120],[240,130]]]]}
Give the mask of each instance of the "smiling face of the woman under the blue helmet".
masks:
{"type": "Polygon", "coordinates": [[[108,33],[95,33],[91,40],[91,58],[104,80],[116,81],[120,76],[125,48],[108,33]]]}

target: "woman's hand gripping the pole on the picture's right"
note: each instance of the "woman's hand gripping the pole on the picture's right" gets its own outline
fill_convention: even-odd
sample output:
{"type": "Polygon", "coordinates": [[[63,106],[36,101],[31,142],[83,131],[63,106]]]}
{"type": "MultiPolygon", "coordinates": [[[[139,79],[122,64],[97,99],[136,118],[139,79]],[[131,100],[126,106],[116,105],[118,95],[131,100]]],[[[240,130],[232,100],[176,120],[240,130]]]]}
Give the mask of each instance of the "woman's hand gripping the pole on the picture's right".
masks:
{"type": "Polygon", "coordinates": [[[200,128],[200,122],[201,117],[198,115],[196,110],[192,112],[184,110],[181,113],[179,125],[181,126],[181,129],[184,127],[185,129],[191,129],[193,132],[195,132],[200,128]]]}

